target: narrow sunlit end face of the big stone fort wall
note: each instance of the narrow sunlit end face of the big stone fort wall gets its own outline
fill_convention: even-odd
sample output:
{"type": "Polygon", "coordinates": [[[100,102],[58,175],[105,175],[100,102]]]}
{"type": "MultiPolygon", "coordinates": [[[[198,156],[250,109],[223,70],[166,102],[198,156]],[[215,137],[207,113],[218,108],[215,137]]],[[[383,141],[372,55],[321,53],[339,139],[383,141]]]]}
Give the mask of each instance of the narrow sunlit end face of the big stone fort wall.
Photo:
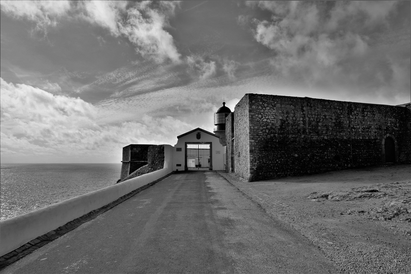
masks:
{"type": "Polygon", "coordinates": [[[250,174],[250,142],[249,94],[245,94],[234,112],[234,170],[244,178],[248,178],[250,174]]]}

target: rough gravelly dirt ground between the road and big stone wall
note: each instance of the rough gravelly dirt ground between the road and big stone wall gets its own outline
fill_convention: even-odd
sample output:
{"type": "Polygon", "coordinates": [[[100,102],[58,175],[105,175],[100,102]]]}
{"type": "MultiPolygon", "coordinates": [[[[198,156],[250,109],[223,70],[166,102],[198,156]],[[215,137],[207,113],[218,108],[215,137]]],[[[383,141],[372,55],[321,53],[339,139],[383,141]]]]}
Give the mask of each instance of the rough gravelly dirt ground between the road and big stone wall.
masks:
{"type": "Polygon", "coordinates": [[[257,182],[219,173],[342,272],[411,272],[411,165],[257,182]]]}

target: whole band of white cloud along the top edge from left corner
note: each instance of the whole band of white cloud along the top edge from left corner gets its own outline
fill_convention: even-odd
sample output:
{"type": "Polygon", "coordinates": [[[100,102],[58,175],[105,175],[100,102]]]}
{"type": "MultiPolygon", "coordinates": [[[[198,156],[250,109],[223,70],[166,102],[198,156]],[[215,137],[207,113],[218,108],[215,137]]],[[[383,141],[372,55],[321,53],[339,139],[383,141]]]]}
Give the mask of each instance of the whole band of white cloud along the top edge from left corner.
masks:
{"type": "Polygon", "coordinates": [[[180,62],[173,37],[165,30],[179,7],[178,1],[1,0],[0,5],[8,15],[35,22],[36,29],[44,33],[63,17],[85,20],[109,30],[115,37],[126,37],[145,58],[180,62]]]}

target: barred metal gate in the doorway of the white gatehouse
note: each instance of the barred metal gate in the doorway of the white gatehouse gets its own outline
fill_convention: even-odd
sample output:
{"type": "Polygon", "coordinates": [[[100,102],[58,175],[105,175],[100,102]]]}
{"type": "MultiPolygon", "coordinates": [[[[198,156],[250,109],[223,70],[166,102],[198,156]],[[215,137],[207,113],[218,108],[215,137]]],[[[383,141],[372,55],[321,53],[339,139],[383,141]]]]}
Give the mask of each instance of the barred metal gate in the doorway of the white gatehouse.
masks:
{"type": "Polygon", "coordinates": [[[210,144],[187,144],[185,150],[188,170],[210,169],[210,144]]]}

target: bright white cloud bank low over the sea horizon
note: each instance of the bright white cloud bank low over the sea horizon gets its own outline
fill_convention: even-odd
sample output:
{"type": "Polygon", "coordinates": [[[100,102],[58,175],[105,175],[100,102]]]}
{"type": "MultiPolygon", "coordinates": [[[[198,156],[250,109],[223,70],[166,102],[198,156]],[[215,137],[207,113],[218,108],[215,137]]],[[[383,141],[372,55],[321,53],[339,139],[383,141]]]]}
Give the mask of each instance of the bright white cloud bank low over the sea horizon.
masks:
{"type": "Polygon", "coordinates": [[[80,98],[53,95],[0,78],[2,161],[119,161],[130,143],[174,144],[188,125],[175,118],[141,115],[138,121],[99,124],[99,110],[80,98]]]}

